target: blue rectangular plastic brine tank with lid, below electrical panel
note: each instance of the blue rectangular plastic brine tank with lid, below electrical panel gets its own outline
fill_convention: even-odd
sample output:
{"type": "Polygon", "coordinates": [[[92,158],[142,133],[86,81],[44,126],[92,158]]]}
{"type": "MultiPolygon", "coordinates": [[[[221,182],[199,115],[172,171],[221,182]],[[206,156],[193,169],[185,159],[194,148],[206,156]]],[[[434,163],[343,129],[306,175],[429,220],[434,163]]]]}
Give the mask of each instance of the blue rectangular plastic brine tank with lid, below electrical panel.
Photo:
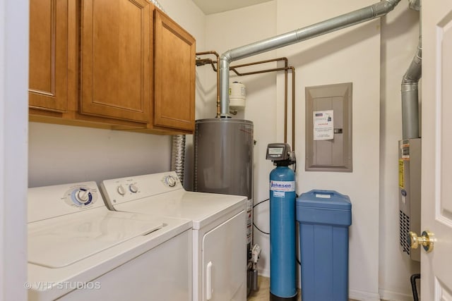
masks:
{"type": "Polygon", "coordinates": [[[348,301],[348,228],[352,204],[334,190],[311,190],[297,198],[302,300],[348,301]]]}

